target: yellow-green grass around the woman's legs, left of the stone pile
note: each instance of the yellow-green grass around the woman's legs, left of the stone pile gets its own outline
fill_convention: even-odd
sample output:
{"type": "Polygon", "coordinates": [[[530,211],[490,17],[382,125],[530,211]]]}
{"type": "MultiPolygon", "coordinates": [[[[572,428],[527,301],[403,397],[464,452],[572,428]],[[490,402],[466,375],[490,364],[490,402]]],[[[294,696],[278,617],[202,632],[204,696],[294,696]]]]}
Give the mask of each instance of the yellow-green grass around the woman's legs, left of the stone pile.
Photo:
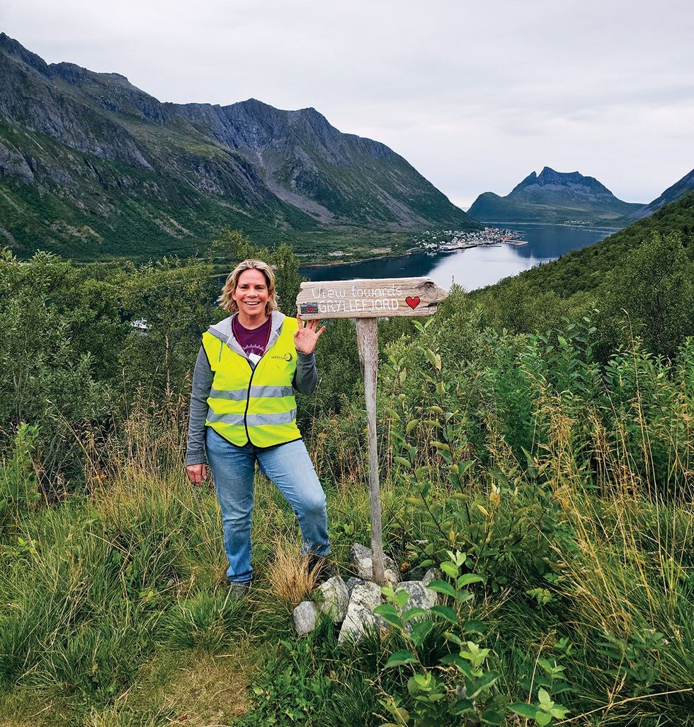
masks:
{"type": "MultiPolygon", "coordinates": [[[[176,712],[192,724],[230,723],[248,708],[248,672],[260,668],[267,638],[291,637],[291,611],[315,582],[291,509],[259,475],[256,585],[230,597],[210,483],[192,487],[167,467],[181,442],[151,437],[150,424],[133,412],[126,445],[100,445],[87,494],[33,502],[6,523],[2,723],[64,714],[71,724],[163,724],[176,712]]],[[[326,489],[336,507],[368,511],[363,491],[326,489]]]]}

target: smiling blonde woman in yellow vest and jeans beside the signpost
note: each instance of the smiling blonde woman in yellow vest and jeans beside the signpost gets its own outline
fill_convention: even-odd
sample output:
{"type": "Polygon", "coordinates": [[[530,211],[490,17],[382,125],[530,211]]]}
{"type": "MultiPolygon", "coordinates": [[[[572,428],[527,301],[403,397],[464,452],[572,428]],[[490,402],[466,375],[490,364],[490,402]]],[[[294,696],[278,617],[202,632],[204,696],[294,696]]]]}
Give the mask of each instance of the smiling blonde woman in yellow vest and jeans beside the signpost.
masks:
{"type": "Polygon", "coordinates": [[[256,461],[280,489],[301,527],[312,563],[330,554],[326,496],[296,426],[293,390],[318,382],[314,349],[325,331],[277,310],[269,265],[244,260],[218,298],[232,313],[202,334],[193,372],[186,471],[200,484],[205,449],[221,507],[232,590],[251,585],[251,512],[256,461]]]}

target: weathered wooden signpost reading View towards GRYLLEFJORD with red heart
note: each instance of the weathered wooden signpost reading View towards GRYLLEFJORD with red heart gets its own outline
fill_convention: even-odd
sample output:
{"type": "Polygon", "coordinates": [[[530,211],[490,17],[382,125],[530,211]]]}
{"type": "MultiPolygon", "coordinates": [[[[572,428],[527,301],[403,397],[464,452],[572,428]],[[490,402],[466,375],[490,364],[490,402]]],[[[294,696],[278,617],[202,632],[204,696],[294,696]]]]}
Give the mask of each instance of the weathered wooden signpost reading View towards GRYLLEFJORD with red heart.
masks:
{"type": "Polygon", "coordinates": [[[301,283],[296,308],[304,321],[356,318],[357,347],[364,378],[368,419],[368,485],[371,499],[371,553],[374,581],[385,585],[381,489],[376,443],[376,374],[378,318],[433,316],[448,294],[429,278],[376,278],[301,283]]]}

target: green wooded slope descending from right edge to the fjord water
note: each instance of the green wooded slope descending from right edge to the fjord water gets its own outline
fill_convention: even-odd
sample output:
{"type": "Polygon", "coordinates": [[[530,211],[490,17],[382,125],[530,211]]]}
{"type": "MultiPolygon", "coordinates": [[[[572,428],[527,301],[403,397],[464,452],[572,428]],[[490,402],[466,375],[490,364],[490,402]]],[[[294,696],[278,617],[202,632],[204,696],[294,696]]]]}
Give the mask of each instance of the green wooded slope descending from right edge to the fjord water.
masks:
{"type": "Polygon", "coordinates": [[[473,293],[494,326],[531,332],[588,316],[599,355],[637,336],[674,356],[694,324],[694,193],[601,242],[473,293]],[[625,315],[624,311],[627,311],[625,315]],[[628,329],[628,330],[627,330],[628,329]]]}

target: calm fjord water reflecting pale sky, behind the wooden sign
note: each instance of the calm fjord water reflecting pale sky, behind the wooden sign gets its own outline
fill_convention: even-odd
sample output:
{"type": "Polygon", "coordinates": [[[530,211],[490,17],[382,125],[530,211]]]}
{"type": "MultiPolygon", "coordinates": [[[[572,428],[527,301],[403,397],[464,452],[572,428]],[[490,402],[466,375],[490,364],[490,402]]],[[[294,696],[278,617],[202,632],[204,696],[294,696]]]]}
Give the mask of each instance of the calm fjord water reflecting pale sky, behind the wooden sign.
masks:
{"type": "Polygon", "coordinates": [[[483,288],[521,270],[556,260],[564,253],[592,245],[615,232],[607,228],[569,227],[567,225],[500,225],[516,230],[527,245],[509,244],[473,247],[457,252],[424,252],[367,260],[347,265],[317,265],[301,268],[309,280],[352,280],[353,278],[402,278],[428,276],[435,284],[450,289],[453,283],[466,290],[483,288]]]}

